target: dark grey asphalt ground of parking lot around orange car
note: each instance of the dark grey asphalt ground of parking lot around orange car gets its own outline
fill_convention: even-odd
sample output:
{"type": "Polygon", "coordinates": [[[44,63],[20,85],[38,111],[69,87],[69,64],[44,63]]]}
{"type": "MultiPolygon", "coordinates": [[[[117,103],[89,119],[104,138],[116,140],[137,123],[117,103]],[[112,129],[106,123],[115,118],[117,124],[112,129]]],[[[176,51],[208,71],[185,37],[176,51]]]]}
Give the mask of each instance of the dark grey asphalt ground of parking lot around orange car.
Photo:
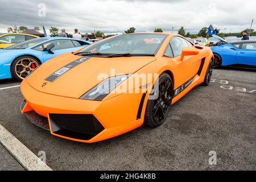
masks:
{"type": "MultiPolygon", "coordinates": [[[[30,123],[19,111],[19,87],[1,90],[15,85],[0,81],[0,124],[34,154],[45,151],[53,170],[256,169],[256,71],[214,70],[210,85],[197,86],[172,106],[159,128],[143,126],[93,144],[57,138],[30,123]],[[210,151],[217,165],[209,165],[210,151]]],[[[1,144],[0,154],[9,155],[1,144]]],[[[23,169],[13,163],[0,170],[23,169]]]]}

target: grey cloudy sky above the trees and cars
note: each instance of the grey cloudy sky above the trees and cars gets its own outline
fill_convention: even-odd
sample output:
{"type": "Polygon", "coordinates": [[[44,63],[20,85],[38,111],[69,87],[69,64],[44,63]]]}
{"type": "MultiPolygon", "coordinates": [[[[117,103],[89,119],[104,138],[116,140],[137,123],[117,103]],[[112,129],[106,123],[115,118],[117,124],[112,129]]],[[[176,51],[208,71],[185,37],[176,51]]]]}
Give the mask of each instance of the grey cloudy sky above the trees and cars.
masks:
{"type": "Polygon", "coordinates": [[[222,32],[225,28],[226,32],[240,32],[250,27],[251,19],[256,20],[254,0],[0,0],[0,5],[0,32],[14,25],[44,25],[70,33],[73,28],[80,32],[93,32],[94,28],[105,33],[123,32],[133,26],[137,32],[158,27],[171,32],[172,27],[177,31],[185,26],[197,33],[209,24],[222,32]]]}

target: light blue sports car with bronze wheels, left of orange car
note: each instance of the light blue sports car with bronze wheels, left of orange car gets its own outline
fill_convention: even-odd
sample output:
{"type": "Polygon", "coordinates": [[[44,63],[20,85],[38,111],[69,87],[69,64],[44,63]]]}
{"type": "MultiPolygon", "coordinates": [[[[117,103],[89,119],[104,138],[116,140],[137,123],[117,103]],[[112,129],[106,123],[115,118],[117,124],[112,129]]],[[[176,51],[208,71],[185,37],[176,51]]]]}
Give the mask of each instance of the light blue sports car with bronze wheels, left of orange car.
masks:
{"type": "Polygon", "coordinates": [[[84,40],[46,37],[0,49],[0,80],[13,77],[21,81],[47,60],[89,44],[84,40]]]}

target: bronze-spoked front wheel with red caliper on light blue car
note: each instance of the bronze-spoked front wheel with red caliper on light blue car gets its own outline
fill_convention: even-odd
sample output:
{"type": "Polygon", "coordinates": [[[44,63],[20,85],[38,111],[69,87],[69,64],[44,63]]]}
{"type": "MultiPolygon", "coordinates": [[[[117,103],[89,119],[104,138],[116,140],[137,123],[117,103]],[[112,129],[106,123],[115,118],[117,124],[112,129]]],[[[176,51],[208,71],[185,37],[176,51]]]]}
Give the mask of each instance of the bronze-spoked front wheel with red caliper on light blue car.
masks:
{"type": "Polygon", "coordinates": [[[18,80],[22,81],[28,76],[34,69],[39,67],[40,63],[34,57],[21,56],[16,58],[11,65],[11,75],[18,80]]]}

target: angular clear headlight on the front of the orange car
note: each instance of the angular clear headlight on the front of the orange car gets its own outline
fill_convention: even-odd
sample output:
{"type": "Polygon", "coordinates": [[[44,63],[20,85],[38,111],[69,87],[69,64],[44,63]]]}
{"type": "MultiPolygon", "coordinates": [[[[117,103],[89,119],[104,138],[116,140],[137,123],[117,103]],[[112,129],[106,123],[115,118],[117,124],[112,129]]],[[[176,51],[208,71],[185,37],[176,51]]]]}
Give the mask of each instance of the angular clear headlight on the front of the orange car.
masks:
{"type": "Polygon", "coordinates": [[[108,79],[100,82],[97,86],[86,92],[80,99],[102,101],[110,92],[112,92],[118,85],[122,84],[131,75],[121,75],[109,77],[108,79]]]}

